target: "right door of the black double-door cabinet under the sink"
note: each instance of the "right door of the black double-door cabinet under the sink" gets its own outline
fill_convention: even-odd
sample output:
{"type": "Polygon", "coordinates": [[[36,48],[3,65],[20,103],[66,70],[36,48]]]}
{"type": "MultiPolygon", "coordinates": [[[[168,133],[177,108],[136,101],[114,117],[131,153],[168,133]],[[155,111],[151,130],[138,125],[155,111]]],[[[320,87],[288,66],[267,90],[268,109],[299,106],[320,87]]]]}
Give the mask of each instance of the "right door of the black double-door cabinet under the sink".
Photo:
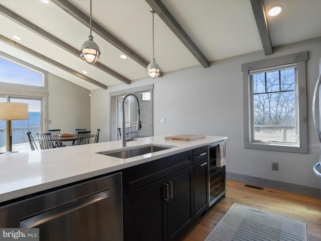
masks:
{"type": "Polygon", "coordinates": [[[194,222],[193,166],[167,178],[168,240],[174,240],[194,222]]]}

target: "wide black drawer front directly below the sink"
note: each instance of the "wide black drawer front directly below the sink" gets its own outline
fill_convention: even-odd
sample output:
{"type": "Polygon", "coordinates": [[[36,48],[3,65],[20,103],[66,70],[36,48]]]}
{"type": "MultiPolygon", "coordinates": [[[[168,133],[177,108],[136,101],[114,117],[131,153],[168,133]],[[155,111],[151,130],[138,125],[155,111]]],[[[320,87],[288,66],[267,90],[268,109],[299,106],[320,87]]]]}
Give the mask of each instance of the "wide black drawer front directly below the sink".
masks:
{"type": "Polygon", "coordinates": [[[192,159],[193,151],[191,150],[123,169],[123,194],[191,166],[192,159]]]}

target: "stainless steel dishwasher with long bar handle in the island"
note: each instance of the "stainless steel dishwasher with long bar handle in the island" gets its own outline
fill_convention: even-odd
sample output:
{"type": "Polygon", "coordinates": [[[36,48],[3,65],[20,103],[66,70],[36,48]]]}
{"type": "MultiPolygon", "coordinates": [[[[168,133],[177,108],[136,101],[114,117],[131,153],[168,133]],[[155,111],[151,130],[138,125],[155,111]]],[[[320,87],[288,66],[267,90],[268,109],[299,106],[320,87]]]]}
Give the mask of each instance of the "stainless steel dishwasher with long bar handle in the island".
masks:
{"type": "Polygon", "coordinates": [[[123,240],[121,173],[0,207],[0,227],[38,227],[41,241],[123,240]]]}

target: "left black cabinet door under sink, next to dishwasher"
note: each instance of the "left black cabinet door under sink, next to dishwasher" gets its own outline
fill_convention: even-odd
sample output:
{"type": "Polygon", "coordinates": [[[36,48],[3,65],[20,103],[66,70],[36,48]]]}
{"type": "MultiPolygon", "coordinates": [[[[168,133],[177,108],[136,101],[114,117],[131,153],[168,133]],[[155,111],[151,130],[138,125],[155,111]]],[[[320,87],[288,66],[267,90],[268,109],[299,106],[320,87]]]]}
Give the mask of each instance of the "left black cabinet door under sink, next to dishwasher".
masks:
{"type": "Polygon", "coordinates": [[[123,195],[124,241],[167,240],[166,181],[123,195]]]}

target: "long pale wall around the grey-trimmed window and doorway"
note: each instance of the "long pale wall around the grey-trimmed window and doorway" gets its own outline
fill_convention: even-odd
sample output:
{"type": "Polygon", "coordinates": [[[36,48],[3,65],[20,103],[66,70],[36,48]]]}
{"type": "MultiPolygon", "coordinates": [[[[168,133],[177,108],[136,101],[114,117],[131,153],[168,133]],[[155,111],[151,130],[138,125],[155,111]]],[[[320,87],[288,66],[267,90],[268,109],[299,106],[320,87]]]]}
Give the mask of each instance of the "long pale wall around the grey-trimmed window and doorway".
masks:
{"type": "MultiPolygon", "coordinates": [[[[320,180],[312,171],[313,164],[318,161],[319,145],[314,133],[311,105],[320,57],[321,39],[317,38],[276,48],[270,56],[260,51],[215,61],[209,68],[198,65],[165,73],[164,77],[155,80],[146,77],[132,81],[130,85],[118,84],[107,90],[94,90],[91,98],[92,129],[96,126],[109,128],[110,91],[154,83],[155,136],[227,136],[227,172],[319,188],[320,180]],[[309,51],[306,66],[308,154],[244,149],[241,64],[301,51],[309,51]],[[166,124],[159,124],[160,117],[166,117],[166,124]],[[272,162],[279,163],[278,171],[271,170],[272,162]]],[[[162,63],[158,64],[162,68],[162,63]]],[[[103,132],[101,141],[109,141],[109,130],[103,132]]]]}

